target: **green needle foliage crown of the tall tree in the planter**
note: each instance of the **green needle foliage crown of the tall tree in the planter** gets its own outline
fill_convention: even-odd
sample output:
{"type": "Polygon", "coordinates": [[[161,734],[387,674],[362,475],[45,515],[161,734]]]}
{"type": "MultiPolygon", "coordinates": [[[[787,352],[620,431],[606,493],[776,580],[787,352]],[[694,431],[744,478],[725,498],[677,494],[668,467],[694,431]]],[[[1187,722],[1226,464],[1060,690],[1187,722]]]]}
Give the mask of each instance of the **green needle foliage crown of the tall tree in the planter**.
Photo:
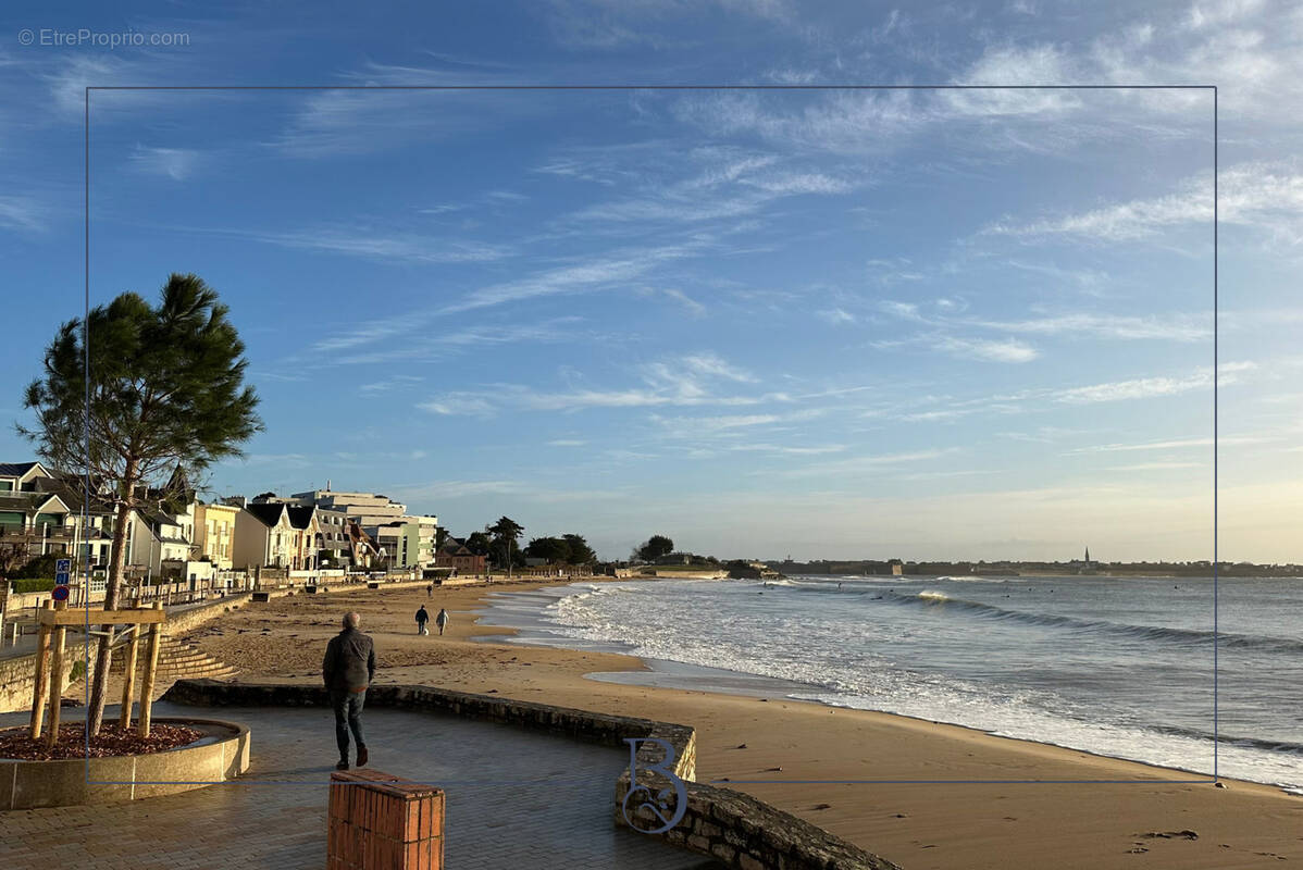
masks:
{"type": "Polygon", "coordinates": [[[194,473],[238,456],[262,423],[258,397],[244,386],[244,343],[227,313],[201,279],[172,275],[156,307],[122,293],[85,323],[68,320],[46,349],[43,376],[23,396],[36,426],[18,431],[53,468],[89,470],[132,501],[138,483],[179,465],[194,473]],[[83,330],[94,336],[89,421],[83,330]]]}

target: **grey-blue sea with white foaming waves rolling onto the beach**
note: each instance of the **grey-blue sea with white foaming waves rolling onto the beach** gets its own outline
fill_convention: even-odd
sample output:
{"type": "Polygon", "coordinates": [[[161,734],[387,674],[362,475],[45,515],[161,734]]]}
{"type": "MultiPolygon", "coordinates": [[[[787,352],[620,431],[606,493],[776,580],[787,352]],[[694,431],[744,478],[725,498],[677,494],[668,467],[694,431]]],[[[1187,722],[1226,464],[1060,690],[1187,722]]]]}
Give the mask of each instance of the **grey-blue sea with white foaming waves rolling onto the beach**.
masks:
{"type": "Polygon", "coordinates": [[[498,593],[593,679],[952,723],[1303,794],[1303,578],[791,577],[498,593]],[[1214,623],[1216,619],[1216,623],[1214,623]],[[1214,643],[1216,638],[1216,643],[1214,643]]]}

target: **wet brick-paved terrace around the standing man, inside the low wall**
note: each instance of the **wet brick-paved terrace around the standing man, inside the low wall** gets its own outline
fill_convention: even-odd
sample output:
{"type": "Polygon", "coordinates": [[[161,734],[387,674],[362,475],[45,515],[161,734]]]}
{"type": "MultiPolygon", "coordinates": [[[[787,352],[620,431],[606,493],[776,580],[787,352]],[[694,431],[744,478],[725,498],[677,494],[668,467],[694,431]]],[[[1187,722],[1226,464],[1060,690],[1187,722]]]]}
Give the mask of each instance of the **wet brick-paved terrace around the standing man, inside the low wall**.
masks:
{"type": "MultiPolygon", "coordinates": [[[[336,759],[330,711],[171,703],[154,711],[245,723],[249,772],[172,797],[0,813],[0,867],[326,865],[326,783],[336,759]]],[[[79,714],[65,710],[64,722],[79,714]]],[[[0,727],[25,722],[26,714],[0,715],[0,727]]],[[[446,791],[451,870],[718,866],[612,823],[615,778],[628,765],[620,749],[383,709],[367,710],[364,727],[370,767],[446,791]]]]}

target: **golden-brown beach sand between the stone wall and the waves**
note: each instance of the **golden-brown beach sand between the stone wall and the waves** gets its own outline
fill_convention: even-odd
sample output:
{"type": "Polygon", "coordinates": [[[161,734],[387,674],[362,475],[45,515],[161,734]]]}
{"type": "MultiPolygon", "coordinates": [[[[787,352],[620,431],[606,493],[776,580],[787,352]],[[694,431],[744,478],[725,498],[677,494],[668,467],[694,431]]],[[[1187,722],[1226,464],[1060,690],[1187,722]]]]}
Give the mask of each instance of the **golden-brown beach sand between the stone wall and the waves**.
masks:
{"type": "MultiPolygon", "coordinates": [[[[654,582],[654,581],[649,581],[654,582]]],[[[697,779],[749,792],[895,861],[906,870],[1274,867],[1303,862],[1303,797],[904,716],[681,689],[628,686],[585,673],[645,669],[636,658],[473,642],[489,591],[556,581],[351,590],[251,604],[192,642],[241,679],[321,680],[324,643],[345,610],[375,638],[378,684],[412,682],[646,716],[697,729],[697,779]],[[418,637],[413,613],[447,607],[448,632],[418,637]],[[740,746],[745,745],[745,749],[740,746]],[[737,780],[1052,780],[963,784],[745,784],[737,780]],[[1061,780],[1149,780],[1076,784],[1061,780]],[[1182,832],[1194,832],[1197,839],[1182,832]],[[1166,836],[1164,836],[1166,835],[1166,836]]],[[[334,751],[323,724],[322,753],[334,751]]],[[[437,748],[435,748],[437,750],[437,748]]],[[[375,762],[384,770],[396,761],[375,762]]]]}

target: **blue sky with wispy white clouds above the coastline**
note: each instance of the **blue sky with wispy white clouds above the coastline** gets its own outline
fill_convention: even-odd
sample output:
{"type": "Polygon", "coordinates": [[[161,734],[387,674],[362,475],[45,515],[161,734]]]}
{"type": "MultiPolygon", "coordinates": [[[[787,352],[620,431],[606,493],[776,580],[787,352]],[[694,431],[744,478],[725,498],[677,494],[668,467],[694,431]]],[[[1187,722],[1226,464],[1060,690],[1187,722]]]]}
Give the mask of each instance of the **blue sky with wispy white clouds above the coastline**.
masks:
{"type": "Polygon", "coordinates": [[[1303,8],[0,18],[0,422],[82,311],[83,89],[324,86],[90,94],[91,303],[194,272],[248,345],[266,431],[212,495],[603,557],[1200,560],[1216,491],[1221,559],[1303,561],[1303,8]],[[339,90],[429,85],[628,87],[339,90]],[[1216,85],[1216,357],[1210,90],[844,85],[1216,85]]]}

